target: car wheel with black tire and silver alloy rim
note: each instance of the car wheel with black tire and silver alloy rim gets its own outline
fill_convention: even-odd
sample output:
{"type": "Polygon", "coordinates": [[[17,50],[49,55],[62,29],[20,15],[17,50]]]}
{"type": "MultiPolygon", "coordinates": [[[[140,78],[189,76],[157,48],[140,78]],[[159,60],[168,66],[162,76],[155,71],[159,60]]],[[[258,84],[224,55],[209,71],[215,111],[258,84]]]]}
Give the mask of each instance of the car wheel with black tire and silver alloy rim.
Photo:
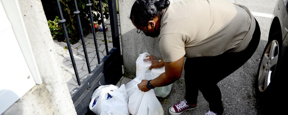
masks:
{"type": "Polygon", "coordinates": [[[265,114],[275,114],[280,79],[280,64],[282,53],[282,33],[272,34],[264,48],[256,76],[256,98],[265,114]]]}

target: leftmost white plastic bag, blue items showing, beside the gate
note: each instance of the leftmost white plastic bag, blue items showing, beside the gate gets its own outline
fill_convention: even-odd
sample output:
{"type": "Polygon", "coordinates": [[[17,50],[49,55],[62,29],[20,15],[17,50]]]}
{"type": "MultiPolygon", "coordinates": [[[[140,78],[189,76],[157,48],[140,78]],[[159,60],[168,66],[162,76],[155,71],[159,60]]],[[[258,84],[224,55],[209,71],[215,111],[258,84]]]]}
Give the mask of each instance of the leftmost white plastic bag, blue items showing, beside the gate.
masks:
{"type": "MultiPolygon", "coordinates": [[[[92,95],[89,108],[97,115],[109,115],[115,111],[129,115],[128,95],[125,85],[102,85],[92,95]]],[[[121,114],[122,115],[122,114],[121,114]]]]}

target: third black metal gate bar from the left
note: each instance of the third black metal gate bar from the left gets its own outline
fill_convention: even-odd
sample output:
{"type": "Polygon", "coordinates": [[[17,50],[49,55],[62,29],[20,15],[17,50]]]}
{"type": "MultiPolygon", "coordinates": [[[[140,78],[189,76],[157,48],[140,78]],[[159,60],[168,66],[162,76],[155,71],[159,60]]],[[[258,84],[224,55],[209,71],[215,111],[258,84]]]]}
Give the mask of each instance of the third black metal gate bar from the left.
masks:
{"type": "Polygon", "coordinates": [[[98,59],[98,64],[100,64],[100,56],[99,56],[99,50],[98,50],[98,44],[97,44],[97,39],[96,39],[96,34],[95,34],[95,28],[94,28],[94,21],[93,21],[93,14],[92,14],[92,4],[90,3],[90,0],[87,0],[86,6],[89,7],[89,16],[90,16],[90,22],[91,22],[91,28],[92,28],[92,34],[94,38],[94,44],[96,48],[96,54],[97,54],[97,59],[98,59]]]}

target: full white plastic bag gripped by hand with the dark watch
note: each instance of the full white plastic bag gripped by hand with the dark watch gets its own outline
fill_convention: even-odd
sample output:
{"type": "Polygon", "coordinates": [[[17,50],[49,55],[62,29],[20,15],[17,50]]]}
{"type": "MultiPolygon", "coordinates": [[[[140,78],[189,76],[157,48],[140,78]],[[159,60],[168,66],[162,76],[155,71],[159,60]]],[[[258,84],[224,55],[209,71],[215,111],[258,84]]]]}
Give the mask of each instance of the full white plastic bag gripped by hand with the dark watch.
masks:
{"type": "Polygon", "coordinates": [[[128,111],[132,115],[163,115],[164,110],[153,90],[141,91],[137,84],[144,77],[137,76],[125,85],[128,94],[128,111]]]}

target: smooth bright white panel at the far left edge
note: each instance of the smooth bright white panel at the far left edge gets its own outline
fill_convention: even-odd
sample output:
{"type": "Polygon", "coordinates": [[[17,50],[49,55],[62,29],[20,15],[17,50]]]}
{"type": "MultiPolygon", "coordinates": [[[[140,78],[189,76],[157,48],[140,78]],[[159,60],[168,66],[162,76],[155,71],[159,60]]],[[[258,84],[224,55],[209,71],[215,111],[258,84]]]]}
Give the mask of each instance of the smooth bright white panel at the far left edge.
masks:
{"type": "Polygon", "coordinates": [[[2,114],[36,84],[1,2],[0,16],[2,16],[0,18],[2,22],[0,26],[2,54],[0,56],[0,114],[2,114]]]}

